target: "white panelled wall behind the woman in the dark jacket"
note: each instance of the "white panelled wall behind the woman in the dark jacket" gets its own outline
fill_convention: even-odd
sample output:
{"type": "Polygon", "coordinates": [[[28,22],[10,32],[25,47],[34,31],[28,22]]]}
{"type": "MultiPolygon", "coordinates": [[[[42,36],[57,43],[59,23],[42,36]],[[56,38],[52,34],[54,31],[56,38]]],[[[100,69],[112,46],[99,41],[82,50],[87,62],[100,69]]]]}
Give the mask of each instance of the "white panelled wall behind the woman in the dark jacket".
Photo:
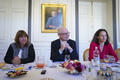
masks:
{"type": "Polygon", "coordinates": [[[0,0],[0,59],[19,29],[27,31],[28,0],[0,0]]]}

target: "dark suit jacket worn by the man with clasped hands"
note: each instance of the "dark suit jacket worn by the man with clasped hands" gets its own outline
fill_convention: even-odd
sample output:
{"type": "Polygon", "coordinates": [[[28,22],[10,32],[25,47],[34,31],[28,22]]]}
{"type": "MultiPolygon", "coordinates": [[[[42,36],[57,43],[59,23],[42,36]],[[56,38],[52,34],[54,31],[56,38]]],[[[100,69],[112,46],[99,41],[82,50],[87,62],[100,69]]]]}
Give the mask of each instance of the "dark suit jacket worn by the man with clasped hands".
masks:
{"type": "MultiPolygon", "coordinates": [[[[72,53],[70,54],[71,60],[77,59],[78,60],[78,54],[76,51],[76,43],[75,41],[69,39],[67,43],[70,45],[70,47],[73,49],[72,53]]],[[[55,41],[51,42],[51,56],[50,59],[55,61],[64,61],[65,51],[63,51],[62,54],[59,53],[59,49],[61,47],[60,39],[57,39],[55,41]]]]}

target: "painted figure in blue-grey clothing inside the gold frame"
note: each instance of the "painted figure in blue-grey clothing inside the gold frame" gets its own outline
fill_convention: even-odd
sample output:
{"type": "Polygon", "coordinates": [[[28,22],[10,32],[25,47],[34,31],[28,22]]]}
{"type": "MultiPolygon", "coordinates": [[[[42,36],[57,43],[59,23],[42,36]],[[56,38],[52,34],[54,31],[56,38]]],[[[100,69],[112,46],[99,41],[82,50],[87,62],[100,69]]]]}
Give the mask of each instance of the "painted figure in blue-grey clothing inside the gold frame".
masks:
{"type": "Polygon", "coordinates": [[[57,29],[59,26],[63,26],[63,9],[55,8],[46,13],[46,29],[57,29]]]}

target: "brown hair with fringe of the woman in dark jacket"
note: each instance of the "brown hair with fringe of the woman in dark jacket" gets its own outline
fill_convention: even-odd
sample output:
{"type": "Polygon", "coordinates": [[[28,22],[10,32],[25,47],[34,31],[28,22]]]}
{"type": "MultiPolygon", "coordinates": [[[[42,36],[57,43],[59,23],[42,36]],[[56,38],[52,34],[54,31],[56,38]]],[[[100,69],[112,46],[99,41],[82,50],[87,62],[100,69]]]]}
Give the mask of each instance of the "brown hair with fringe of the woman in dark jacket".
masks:
{"type": "Polygon", "coordinates": [[[16,47],[18,47],[18,48],[21,47],[19,38],[22,37],[23,35],[27,37],[27,42],[26,42],[25,46],[28,46],[28,44],[29,44],[29,37],[28,37],[27,33],[24,30],[19,30],[15,36],[15,43],[16,43],[16,47]]]}

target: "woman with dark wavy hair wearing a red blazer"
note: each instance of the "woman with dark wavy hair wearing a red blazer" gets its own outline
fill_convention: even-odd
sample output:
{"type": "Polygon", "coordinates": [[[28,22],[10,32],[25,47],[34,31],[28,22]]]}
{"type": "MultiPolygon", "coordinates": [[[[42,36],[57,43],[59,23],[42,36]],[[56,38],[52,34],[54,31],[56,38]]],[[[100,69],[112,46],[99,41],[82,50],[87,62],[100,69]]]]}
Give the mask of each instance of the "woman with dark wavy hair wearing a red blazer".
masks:
{"type": "Polygon", "coordinates": [[[99,29],[96,31],[93,40],[90,44],[89,48],[89,60],[93,59],[93,51],[95,47],[98,47],[98,50],[100,52],[100,59],[103,60],[105,55],[111,55],[114,56],[115,61],[118,61],[118,57],[115,54],[110,42],[109,42],[109,36],[105,29],[99,29]]]}

